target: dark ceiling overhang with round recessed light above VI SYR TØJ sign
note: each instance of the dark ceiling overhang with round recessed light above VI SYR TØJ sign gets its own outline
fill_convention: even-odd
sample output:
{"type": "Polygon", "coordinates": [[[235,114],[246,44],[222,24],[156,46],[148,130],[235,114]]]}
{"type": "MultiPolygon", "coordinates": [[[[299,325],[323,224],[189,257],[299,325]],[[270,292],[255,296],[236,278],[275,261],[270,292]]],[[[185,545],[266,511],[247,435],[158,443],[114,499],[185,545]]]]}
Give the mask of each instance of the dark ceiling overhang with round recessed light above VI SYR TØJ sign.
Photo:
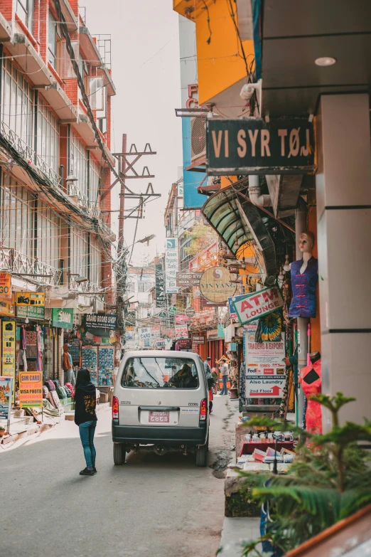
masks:
{"type": "Polygon", "coordinates": [[[262,6],[254,14],[254,49],[263,115],[316,113],[320,95],[370,91],[371,57],[365,54],[371,52],[370,0],[255,5],[262,6]],[[335,64],[316,65],[324,56],[335,64]]]}

